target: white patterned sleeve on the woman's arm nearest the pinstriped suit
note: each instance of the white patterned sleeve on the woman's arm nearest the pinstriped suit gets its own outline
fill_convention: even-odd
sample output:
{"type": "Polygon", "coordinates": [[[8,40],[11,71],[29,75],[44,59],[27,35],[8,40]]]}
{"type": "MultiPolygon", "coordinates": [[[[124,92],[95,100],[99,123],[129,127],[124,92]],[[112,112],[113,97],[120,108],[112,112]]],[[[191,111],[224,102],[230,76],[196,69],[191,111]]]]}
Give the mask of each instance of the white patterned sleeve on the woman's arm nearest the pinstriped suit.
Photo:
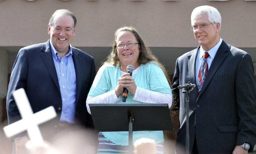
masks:
{"type": "Polygon", "coordinates": [[[172,94],[155,92],[144,88],[137,87],[133,100],[143,103],[168,103],[172,106],[172,94]]]}

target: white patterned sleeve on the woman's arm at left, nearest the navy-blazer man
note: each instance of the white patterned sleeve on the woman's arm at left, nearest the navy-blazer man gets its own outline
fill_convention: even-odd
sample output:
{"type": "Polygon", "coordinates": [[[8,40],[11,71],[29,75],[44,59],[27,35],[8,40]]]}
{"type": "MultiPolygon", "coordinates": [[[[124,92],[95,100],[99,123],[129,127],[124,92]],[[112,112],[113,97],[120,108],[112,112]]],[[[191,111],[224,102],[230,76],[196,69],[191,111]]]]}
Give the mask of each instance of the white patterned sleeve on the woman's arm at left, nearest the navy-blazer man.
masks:
{"type": "Polygon", "coordinates": [[[109,104],[118,102],[119,100],[121,100],[121,98],[120,96],[116,96],[115,89],[95,97],[88,95],[86,99],[87,111],[91,114],[90,107],[88,104],[109,104]]]}

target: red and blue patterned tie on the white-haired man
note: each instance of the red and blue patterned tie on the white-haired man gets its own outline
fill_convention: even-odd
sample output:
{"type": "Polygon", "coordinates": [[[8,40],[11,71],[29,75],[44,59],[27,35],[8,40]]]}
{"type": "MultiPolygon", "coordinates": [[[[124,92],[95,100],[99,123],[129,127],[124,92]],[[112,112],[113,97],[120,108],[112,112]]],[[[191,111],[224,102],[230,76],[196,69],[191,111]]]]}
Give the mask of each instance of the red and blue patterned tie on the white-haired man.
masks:
{"type": "Polygon", "coordinates": [[[200,70],[199,70],[199,73],[198,73],[198,84],[197,84],[198,94],[200,93],[200,91],[202,89],[203,83],[205,81],[205,77],[206,77],[207,72],[208,72],[208,64],[207,64],[207,61],[206,61],[208,56],[209,56],[209,53],[205,52],[203,62],[201,64],[201,67],[200,67],[200,70]]]}

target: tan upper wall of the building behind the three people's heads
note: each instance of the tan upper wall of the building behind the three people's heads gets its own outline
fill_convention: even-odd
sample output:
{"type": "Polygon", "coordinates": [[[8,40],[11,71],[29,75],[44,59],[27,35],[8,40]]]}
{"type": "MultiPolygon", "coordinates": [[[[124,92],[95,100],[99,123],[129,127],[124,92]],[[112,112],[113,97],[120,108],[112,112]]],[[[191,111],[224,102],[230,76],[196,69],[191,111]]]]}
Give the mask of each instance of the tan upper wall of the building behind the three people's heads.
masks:
{"type": "Polygon", "coordinates": [[[57,9],[77,17],[75,47],[110,47],[113,31],[133,25],[150,47],[197,47],[192,10],[212,5],[222,15],[221,37],[236,47],[256,47],[256,1],[230,0],[3,0],[0,1],[0,47],[45,42],[47,24],[57,9]]]}

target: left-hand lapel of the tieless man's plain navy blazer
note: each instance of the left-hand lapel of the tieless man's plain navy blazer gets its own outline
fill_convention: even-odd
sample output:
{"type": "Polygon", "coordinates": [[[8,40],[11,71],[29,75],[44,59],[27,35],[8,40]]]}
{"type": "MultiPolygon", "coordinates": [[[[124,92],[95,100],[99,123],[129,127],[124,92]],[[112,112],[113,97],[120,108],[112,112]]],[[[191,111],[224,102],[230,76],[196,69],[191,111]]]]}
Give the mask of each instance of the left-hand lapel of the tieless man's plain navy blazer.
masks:
{"type": "Polygon", "coordinates": [[[41,54],[41,57],[44,61],[44,64],[45,64],[46,68],[48,69],[56,87],[58,88],[59,93],[61,93],[60,89],[59,89],[59,80],[58,80],[55,64],[53,62],[51,46],[50,46],[49,40],[43,45],[41,50],[43,51],[43,53],[41,54]]]}

